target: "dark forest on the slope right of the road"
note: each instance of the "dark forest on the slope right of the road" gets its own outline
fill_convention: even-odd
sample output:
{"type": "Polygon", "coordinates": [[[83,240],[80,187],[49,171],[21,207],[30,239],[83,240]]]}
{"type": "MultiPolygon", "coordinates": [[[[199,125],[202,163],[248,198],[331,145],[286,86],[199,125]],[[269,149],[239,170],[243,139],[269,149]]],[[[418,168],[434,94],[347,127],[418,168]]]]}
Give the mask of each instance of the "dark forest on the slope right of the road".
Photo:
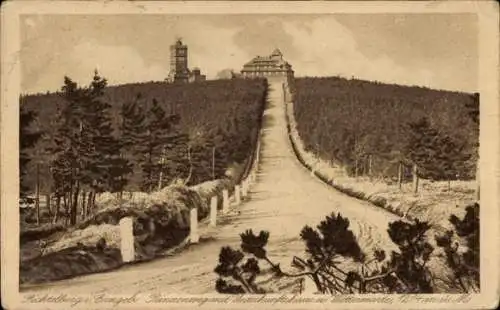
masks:
{"type": "Polygon", "coordinates": [[[308,151],[351,176],[476,175],[479,94],[341,77],[298,78],[294,113],[308,151]]]}

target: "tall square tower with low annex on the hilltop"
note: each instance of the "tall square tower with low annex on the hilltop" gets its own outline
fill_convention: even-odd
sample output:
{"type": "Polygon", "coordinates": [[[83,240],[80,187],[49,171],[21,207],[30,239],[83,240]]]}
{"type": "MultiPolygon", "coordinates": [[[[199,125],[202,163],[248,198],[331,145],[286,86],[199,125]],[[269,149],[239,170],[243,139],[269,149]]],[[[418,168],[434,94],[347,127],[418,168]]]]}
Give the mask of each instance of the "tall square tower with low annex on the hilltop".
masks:
{"type": "Polygon", "coordinates": [[[192,83],[205,81],[206,76],[201,74],[199,68],[189,70],[188,47],[177,39],[175,44],[170,46],[170,72],[166,79],[170,83],[192,83]]]}

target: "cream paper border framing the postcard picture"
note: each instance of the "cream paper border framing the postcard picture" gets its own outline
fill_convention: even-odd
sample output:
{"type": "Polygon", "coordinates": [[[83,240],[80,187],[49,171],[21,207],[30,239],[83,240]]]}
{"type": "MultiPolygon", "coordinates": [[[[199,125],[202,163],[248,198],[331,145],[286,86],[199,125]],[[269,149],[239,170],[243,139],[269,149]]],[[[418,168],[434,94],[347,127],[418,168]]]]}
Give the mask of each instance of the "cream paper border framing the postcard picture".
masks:
{"type": "MultiPolygon", "coordinates": [[[[481,293],[471,295],[467,303],[426,303],[410,298],[411,302],[335,303],[335,304],[204,304],[205,308],[247,307],[264,308],[359,308],[359,309],[435,309],[435,308],[494,308],[499,298],[499,78],[498,78],[498,6],[487,1],[444,2],[80,2],[80,1],[16,1],[2,6],[2,65],[1,65],[1,244],[2,301],[9,309],[19,308],[19,214],[17,197],[18,135],[20,88],[19,15],[22,14],[328,14],[328,13],[475,13],[479,17],[479,92],[481,94],[480,165],[481,165],[481,293]]],[[[178,295],[177,295],[178,296],[178,295]]],[[[218,296],[220,295],[207,295],[218,296]]],[[[408,295],[407,295],[408,296],[408,295]]],[[[433,298],[449,295],[433,295],[433,298]]],[[[370,297],[367,295],[366,297],[370,297]]],[[[392,296],[397,297],[397,296],[392,296]]],[[[91,305],[83,305],[85,309],[91,305]]],[[[96,305],[102,309],[102,306],[96,305]]],[[[161,308],[185,308],[194,304],[165,304],[161,308]]],[[[23,309],[65,309],[48,304],[23,305],[23,309]]],[[[126,308],[150,309],[146,304],[126,308]]],[[[75,307],[76,308],[76,307],[75,307]]],[[[121,308],[121,307],[120,307],[121,308]]],[[[158,305],[155,308],[159,308],[158,305]]]]}

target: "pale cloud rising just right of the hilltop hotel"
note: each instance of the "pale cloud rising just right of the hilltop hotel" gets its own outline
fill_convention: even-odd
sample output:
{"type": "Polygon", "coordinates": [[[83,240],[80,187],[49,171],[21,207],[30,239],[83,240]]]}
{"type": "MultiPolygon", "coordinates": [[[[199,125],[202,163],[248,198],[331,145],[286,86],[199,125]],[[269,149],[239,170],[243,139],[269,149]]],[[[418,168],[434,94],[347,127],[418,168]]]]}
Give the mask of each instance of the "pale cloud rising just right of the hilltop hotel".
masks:
{"type": "Polygon", "coordinates": [[[391,83],[430,85],[433,74],[395,63],[387,55],[368,58],[354,35],[333,17],[304,23],[283,23],[293,37],[293,53],[287,56],[297,76],[357,77],[391,83]]]}

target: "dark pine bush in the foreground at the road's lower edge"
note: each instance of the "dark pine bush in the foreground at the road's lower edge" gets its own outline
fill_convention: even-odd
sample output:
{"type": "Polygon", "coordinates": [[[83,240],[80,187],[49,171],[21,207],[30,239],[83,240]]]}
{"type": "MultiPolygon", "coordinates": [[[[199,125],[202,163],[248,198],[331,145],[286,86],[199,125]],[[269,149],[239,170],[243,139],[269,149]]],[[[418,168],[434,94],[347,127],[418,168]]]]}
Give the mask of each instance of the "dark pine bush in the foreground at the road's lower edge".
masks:
{"type": "Polygon", "coordinates": [[[416,221],[408,224],[396,221],[389,225],[388,233],[399,247],[399,252],[386,256],[383,249],[374,249],[371,255],[364,253],[349,229],[349,220],[340,214],[331,214],[317,229],[305,226],[301,232],[307,258],[294,256],[292,265],[299,272],[286,272],[280,264],[272,262],[267,255],[269,233],[258,235],[252,230],[240,234],[241,250],[223,247],[219,263],[214,271],[219,278],[215,288],[220,293],[267,293],[257,282],[262,275],[259,263],[270,266],[275,277],[309,277],[320,293],[432,293],[431,273],[426,266],[433,247],[427,242],[425,233],[428,223],[416,221]],[[341,261],[349,259],[355,267],[345,270],[341,261]],[[379,267],[377,267],[379,266],[379,267]]]}

